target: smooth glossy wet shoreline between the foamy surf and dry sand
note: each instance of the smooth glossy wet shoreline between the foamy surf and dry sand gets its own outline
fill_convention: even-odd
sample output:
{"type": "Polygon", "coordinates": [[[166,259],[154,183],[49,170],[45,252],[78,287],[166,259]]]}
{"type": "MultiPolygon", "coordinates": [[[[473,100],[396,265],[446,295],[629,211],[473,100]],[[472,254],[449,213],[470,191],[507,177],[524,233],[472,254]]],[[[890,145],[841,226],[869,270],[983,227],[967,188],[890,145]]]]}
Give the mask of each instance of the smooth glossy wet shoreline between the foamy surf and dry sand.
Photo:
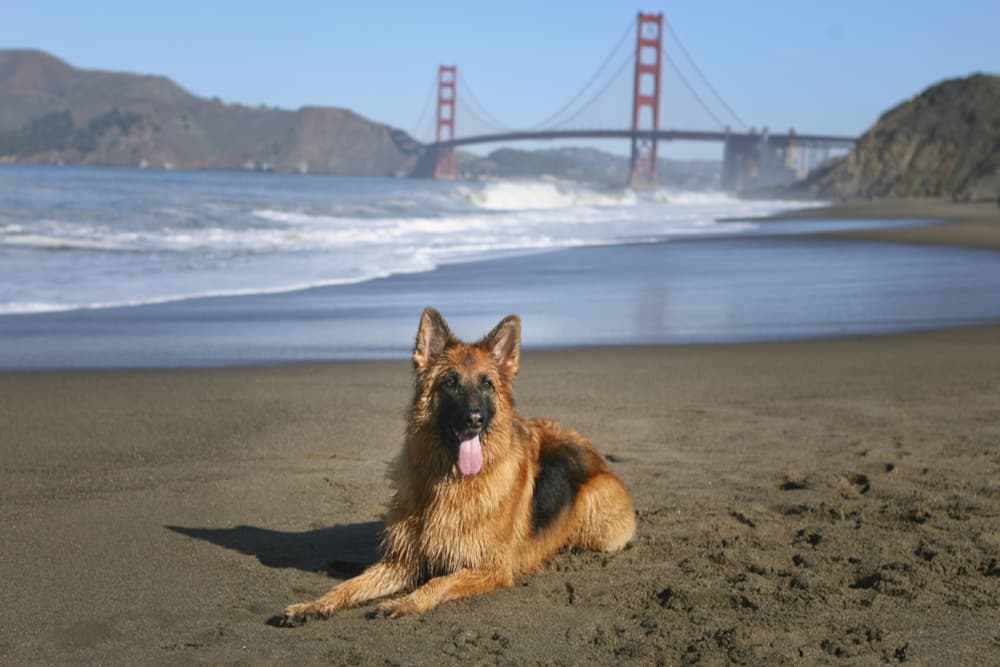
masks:
{"type": "Polygon", "coordinates": [[[990,288],[1000,284],[1000,212],[985,205],[861,202],[754,221],[762,234],[585,246],[294,292],[0,317],[0,372],[401,359],[411,320],[430,303],[467,337],[518,312],[535,349],[837,339],[1000,321],[1000,293],[990,288]],[[767,232],[773,221],[801,227],[876,213],[955,222],[767,232]]]}

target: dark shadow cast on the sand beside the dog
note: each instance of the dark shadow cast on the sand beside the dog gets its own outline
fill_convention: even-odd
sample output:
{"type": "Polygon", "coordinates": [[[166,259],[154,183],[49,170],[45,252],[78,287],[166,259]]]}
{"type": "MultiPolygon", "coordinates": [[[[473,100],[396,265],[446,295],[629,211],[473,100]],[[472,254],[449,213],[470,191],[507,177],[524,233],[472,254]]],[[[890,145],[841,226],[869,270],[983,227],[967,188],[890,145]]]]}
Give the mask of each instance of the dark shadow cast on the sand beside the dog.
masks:
{"type": "Polygon", "coordinates": [[[166,528],[255,556],[267,567],[292,567],[306,572],[325,571],[338,579],[353,577],[374,564],[378,560],[378,545],[382,537],[382,524],[376,521],[304,532],[284,532],[255,526],[166,528]]]}

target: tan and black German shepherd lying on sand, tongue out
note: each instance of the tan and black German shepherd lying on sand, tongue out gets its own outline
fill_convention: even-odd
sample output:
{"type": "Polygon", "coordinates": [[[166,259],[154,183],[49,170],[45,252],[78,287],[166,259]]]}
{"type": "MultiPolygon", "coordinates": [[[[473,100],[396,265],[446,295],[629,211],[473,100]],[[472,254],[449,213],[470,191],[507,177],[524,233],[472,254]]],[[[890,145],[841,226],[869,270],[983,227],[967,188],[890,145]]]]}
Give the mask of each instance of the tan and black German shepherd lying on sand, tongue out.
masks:
{"type": "Polygon", "coordinates": [[[514,411],[520,350],[516,315],[470,344],[436,310],[423,312],[382,560],[276,620],[327,618],[400,591],[379,611],[420,614],[510,586],[563,548],[611,552],[632,539],[632,499],[594,445],[514,411]]]}

